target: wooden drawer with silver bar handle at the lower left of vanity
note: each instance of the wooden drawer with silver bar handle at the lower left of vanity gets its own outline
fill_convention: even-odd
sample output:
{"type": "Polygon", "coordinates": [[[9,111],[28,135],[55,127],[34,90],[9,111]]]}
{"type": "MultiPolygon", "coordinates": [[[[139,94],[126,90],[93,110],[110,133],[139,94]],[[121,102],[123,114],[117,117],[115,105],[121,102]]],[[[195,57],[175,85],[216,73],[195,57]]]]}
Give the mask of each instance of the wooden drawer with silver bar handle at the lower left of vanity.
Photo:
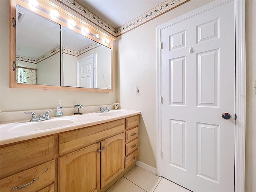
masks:
{"type": "Polygon", "coordinates": [[[37,192],[54,182],[54,160],[30,168],[0,180],[1,192],[10,192],[12,188],[21,187],[34,180],[34,183],[19,189],[19,192],[37,192]],[[38,180],[35,180],[38,178],[38,180]]]}

